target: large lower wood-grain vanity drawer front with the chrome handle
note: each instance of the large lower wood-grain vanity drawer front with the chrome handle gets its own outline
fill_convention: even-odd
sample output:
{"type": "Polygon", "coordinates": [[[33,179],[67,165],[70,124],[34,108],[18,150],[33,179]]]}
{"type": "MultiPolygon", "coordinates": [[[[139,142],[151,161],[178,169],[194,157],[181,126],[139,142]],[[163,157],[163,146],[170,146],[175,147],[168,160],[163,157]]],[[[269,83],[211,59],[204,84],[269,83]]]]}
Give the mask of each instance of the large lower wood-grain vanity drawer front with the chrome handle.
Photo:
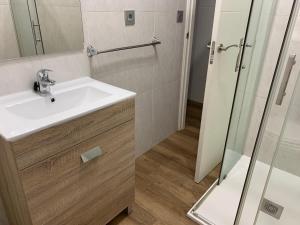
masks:
{"type": "Polygon", "coordinates": [[[134,122],[86,140],[19,175],[33,225],[104,225],[134,198],[134,122]],[[83,163],[82,154],[98,146],[103,154],[83,163]]]}

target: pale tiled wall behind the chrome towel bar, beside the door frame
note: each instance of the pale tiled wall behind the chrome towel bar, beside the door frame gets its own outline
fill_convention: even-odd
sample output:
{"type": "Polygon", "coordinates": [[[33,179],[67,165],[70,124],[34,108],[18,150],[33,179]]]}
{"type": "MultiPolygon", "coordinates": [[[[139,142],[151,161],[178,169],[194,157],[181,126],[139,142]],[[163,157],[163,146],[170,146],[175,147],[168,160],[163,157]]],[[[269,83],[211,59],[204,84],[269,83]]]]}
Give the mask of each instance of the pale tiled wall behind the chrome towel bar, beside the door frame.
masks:
{"type": "Polygon", "coordinates": [[[184,23],[177,10],[186,0],[87,0],[86,44],[98,49],[162,41],[153,47],[115,52],[90,60],[93,78],[137,92],[136,151],[141,155],[177,130],[184,23]],[[126,27],[124,9],[136,10],[126,27]]]}

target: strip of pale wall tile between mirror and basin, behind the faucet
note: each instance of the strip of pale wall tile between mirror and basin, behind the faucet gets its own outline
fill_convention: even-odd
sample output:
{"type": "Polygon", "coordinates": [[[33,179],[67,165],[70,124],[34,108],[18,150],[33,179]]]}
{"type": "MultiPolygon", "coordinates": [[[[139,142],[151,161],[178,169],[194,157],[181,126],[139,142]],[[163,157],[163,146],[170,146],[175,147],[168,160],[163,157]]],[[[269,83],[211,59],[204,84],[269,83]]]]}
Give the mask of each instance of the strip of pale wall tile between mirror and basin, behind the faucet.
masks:
{"type": "Polygon", "coordinates": [[[32,89],[36,72],[42,68],[52,69],[50,76],[57,82],[90,74],[87,57],[82,53],[11,60],[0,64],[0,96],[32,89]]]}

